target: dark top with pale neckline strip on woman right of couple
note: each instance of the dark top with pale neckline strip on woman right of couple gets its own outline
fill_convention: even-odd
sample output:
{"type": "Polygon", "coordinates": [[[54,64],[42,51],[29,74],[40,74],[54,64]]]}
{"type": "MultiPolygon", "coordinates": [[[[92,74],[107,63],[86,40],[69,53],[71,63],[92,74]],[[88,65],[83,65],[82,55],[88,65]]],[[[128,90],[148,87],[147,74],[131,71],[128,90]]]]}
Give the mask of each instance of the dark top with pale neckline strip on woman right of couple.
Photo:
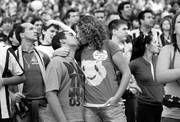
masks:
{"type": "MultiPolygon", "coordinates": [[[[153,62],[153,68],[155,71],[155,61],[153,62]]],[[[164,94],[163,84],[158,83],[156,78],[153,79],[151,64],[140,57],[130,63],[130,69],[142,90],[142,93],[138,96],[138,101],[154,105],[161,103],[164,94]]]]}

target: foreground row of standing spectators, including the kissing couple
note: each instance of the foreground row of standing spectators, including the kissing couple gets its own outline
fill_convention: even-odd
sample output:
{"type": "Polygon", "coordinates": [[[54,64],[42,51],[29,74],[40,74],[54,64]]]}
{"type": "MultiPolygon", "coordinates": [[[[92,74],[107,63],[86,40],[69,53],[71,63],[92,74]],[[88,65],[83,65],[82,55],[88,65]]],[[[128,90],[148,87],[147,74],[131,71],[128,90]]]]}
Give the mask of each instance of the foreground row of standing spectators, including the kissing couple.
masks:
{"type": "Polygon", "coordinates": [[[123,19],[105,26],[92,15],[72,29],[38,18],[17,25],[11,47],[0,44],[0,121],[179,122],[180,13],[168,39],[153,17],[141,11],[131,32],[123,19]]]}

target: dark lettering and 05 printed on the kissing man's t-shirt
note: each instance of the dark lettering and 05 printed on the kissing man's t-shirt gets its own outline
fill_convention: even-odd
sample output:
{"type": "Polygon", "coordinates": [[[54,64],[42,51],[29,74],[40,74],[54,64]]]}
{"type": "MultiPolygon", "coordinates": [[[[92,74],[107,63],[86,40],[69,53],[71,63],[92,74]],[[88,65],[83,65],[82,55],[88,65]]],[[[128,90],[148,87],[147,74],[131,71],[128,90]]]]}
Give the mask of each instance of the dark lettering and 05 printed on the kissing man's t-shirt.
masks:
{"type": "Polygon", "coordinates": [[[81,69],[72,62],[63,62],[68,69],[69,77],[71,78],[71,84],[69,88],[69,105],[70,106],[80,106],[84,98],[84,74],[81,69]]]}

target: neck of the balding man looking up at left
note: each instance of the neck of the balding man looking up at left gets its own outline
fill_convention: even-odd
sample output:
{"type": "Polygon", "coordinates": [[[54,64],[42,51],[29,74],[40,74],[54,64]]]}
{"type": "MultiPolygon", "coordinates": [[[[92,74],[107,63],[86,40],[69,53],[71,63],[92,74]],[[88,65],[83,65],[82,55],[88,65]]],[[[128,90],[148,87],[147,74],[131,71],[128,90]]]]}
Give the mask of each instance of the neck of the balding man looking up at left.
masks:
{"type": "Polygon", "coordinates": [[[22,47],[22,50],[25,50],[25,51],[29,52],[29,51],[33,50],[34,45],[30,41],[23,41],[22,40],[21,47],[22,47]]]}

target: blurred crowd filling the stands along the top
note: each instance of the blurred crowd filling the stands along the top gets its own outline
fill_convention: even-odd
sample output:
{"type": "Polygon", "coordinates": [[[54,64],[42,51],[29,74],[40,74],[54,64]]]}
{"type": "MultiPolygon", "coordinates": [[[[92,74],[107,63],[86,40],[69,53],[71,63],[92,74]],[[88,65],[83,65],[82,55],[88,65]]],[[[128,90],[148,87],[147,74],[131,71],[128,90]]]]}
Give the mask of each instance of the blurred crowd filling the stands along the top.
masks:
{"type": "MultiPolygon", "coordinates": [[[[117,12],[119,3],[125,0],[1,0],[0,23],[2,19],[11,16],[15,23],[31,21],[34,16],[43,20],[66,18],[69,9],[76,9],[81,14],[89,14],[96,9],[105,11],[108,15],[117,12]]],[[[141,10],[151,8],[157,16],[174,14],[179,9],[178,0],[130,0],[134,19],[141,10]]]]}

